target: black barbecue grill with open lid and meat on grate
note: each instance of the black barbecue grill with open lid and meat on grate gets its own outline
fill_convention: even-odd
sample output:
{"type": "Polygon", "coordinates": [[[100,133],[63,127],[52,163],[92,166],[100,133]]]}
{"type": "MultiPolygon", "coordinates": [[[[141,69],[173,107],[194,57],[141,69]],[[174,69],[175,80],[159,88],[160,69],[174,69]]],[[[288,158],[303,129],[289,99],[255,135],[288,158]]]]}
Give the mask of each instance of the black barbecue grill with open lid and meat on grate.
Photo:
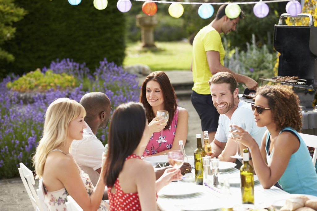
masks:
{"type": "MultiPolygon", "coordinates": [[[[287,13],[280,16],[274,26],[273,45],[281,55],[279,57],[278,76],[260,79],[271,83],[292,86],[305,108],[312,108],[317,90],[317,27],[311,14],[298,14],[296,17],[308,17],[309,26],[283,25],[282,20],[292,17],[287,13]],[[282,80],[292,77],[290,80],[282,80]]],[[[250,101],[250,100],[248,100],[250,101]]]]}

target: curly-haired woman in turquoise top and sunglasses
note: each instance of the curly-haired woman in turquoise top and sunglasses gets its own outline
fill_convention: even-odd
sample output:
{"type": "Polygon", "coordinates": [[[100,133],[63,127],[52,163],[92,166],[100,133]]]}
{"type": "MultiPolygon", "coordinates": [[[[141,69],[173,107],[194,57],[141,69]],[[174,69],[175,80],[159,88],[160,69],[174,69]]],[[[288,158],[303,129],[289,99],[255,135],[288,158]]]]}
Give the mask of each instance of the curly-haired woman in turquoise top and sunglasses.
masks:
{"type": "Polygon", "coordinates": [[[276,182],[288,193],[317,196],[317,175],[301,131],[299,99],[282,85],[262,86],[252,105],[256,125],[267,131],[259,148],[247,131],[237,127],[236,140],[249,147],[256,175],[263,188],[276,182]]]}

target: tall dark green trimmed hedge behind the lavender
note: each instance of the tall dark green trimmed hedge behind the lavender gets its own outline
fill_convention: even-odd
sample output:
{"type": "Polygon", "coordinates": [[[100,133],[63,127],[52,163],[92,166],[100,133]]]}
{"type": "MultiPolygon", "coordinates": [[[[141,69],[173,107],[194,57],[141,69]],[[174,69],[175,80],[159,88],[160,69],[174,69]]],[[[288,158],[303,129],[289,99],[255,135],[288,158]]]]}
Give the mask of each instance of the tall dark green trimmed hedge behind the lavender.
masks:
{"type": "Polygon", "coordinates": [[[86,62],[91,70],[105,57],[122,64],[126,18],[117,9],[116,0],[109,0],[105,10],[95,9],[92,0],[82,0],[77,6],[67,0],[15,3],[29,13],[14,24],[15,38],[3,46],[16,58],[12,63],[0,63],[6,74],[49,66],[57,58],[86,62]]]}

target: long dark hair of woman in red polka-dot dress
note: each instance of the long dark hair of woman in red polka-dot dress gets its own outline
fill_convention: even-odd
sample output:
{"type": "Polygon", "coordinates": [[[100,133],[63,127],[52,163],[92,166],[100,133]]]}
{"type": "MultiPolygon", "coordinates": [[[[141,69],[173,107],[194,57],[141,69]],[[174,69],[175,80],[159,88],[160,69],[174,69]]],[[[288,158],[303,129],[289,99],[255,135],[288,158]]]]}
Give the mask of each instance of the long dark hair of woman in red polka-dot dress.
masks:
{"type": "Polygon", "coordinates": [[[109,127],[109,145],[104,178],[108,187],[114,185],[126,157],[138,147],[145,125],[145,109],[141,103],[121,104],[113,112],[109,127]]]}

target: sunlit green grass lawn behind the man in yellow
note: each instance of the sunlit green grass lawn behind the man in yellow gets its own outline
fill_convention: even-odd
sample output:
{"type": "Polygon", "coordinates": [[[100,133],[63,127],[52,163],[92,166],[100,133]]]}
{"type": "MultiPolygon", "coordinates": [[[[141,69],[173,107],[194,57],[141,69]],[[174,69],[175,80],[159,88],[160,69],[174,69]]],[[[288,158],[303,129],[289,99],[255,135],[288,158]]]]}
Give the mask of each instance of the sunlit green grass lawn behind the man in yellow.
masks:
{"type": "Polygon", "coordinates": [[[156,70],[190,70],[192,46],[189,42],[155,42],[157,50],[142,49],[141,42],[129,43],[123,65],[146,64],[156,70]]]}

